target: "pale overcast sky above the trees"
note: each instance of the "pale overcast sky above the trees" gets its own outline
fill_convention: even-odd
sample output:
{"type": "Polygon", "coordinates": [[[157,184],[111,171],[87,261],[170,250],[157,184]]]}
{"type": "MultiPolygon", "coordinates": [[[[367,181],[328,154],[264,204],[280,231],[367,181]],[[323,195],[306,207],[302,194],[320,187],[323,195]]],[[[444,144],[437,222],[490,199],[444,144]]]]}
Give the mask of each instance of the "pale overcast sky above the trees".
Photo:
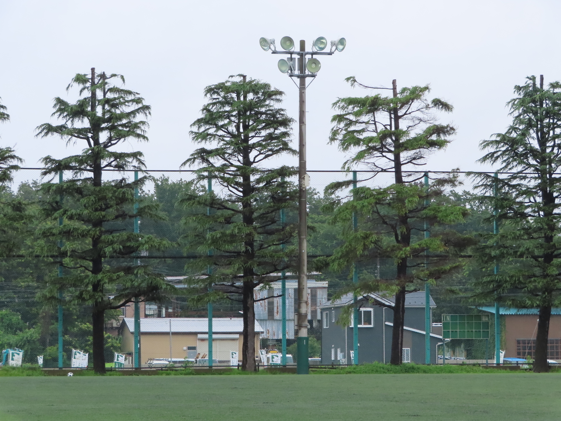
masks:
{"type": "MultiPolygon", "coordinates": [[[[330,108],[337,97],[366,95],[344,78],[369,85],[430,84],[434,97],[454,106],[441,122],[457,127],[445,152],[427,170],[492,170],[475,163],[481,139],[509,123],[505,102],[527,75],[561,79],[560,2],[555,1],[144,1],[4,0],[0,11],[0,97],[11,122],[0,142],[27,167],[45,155],[62,158],[57,138],[34,138],[52,121],[52,100],[75,100],[65,88],[76,73],[125,75],[126,87],[152,108],[148,144],[140,149],[150,169],[177,169],[194,144],[189,125],[200,115],[206,85],[247,74],[286,92],[284,107],[297,118],[296,86],[277,70],[279,56],[259,47],[260,36],[284,35],[310,45],[316,36],[344,36],[347,48],[320,57],[307,91],[308,168],[338,170],[345,156],[327,145],[330,108]]],[[[295,144],[297,139],[295,138],[295,144]]],[[[287,163],[297,164],[296,158],[287,163]]]]}

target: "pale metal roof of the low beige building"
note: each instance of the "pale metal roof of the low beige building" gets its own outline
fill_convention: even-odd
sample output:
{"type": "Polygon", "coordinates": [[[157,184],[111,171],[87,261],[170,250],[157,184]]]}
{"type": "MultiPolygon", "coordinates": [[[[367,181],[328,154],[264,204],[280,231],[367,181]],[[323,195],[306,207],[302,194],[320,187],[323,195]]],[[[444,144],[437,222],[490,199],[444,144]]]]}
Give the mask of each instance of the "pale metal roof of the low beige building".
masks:
{"type": "MultiPolygon", "coordinates": [[[[196,317],[173,317],[173,318],[141,318],[140,333],[169,333],[169,322],[171,321],[172,333],[207,333],[208,318],[196,317]]],[[[123,324],[130,332],[134,332],[135,319],[124,317],[123,324]]],[[[213,332],[241,333],[243,331],[243,319],[241,317],[214,317],[213,332]]],[[[264,332],[259,323],[255,322],[255,332],[264,332]]]]}

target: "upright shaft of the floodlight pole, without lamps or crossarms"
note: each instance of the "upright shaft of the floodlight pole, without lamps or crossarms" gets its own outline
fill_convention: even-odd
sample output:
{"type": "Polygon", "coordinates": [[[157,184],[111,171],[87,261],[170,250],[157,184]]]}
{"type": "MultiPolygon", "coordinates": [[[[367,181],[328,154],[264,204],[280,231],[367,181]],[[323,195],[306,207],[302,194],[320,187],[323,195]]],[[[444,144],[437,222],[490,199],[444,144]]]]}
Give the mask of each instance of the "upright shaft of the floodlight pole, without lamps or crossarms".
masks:
{"type": "MultiPolygon", "coordinates": [[[[305,72],[306,42],[300,40],[298,73],[305,72]]],[[[308,360],[308,261],[306,203],[306,78],[298,78],[298,374],[309,373],[308,360]]]]}

